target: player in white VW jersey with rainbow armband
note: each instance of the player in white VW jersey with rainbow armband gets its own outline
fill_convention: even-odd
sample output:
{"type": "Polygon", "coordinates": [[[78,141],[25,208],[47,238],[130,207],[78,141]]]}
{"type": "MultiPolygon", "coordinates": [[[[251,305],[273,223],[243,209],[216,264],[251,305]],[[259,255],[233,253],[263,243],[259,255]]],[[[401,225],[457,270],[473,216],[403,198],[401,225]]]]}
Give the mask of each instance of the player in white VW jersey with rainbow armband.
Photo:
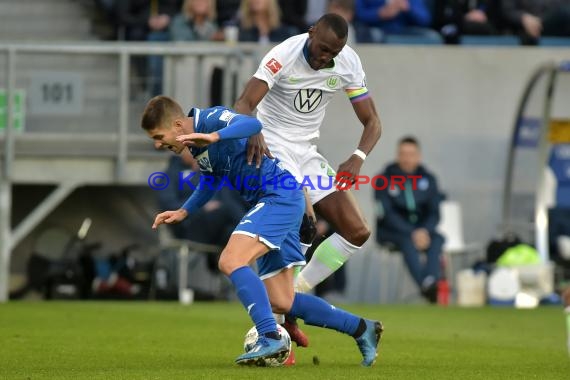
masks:
{"type": "MultiPolygon", "coordinates": [[[[255,158],[259,165],[263,154],[273,154],[301,183],[308,177],[315,187],[309,189],[314,210],[336,231],[317,247],[298,275],[299,291],[306,292],[331,275],[370,236],[352,194],[337,191],[335,186],[326,189],[329,177],[336,173],[311,143],[319,137],[326,106],[337,91],[346,92],[364,126],[357,149],[338,172],[355,178],[380,138],[380,120],[366,89],[364,70],[358,55],[346,46],[347,35],[348,25],[342,17],[324,15],[308,33],[291,37],[269,52],[235,104],[243,114],[257,107],[263,124],[263,136],[250,138],[248,161],[255,158]],[[323,186],[317,186],[319,178],[323,186]]],[[[301,231],[302,242],[309,246],[315,235],[312,222],[306,215],[301,231]]],[[[303,335],[295,336],[295,326],[286,328],[295,329],[291,337],[298,345],[308,344],[303,335]]]]}

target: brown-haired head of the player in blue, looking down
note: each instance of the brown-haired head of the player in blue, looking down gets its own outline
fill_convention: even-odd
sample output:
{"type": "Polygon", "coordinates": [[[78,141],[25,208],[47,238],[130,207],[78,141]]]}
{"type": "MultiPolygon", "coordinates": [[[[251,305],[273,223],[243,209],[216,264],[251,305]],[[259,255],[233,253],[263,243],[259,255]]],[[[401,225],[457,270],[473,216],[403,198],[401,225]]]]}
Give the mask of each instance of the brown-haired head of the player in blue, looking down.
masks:
{"type": "Polygon", "coordinates": [[[176,137],[183,134],[184,112],[176,101],[168,96],[155,96],[147,103],[141,127],[154,140],[157,149],[167,148],[180,154],[186,146],[176,137]]]}

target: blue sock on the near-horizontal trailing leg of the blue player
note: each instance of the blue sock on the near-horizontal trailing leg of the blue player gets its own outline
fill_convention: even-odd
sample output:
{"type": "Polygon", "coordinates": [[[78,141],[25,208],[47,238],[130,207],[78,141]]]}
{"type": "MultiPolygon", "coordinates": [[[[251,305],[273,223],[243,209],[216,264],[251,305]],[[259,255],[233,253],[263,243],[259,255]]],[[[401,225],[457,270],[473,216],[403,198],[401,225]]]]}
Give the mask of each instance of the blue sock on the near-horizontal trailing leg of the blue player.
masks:
{"type": "Polygon", "coordinates": [[[306,324],[326,327],[353,336],[360,324],[360,317],[337,309],[322,298],[310,294],[295,293],[293,306],[289,311],[306,324]]]}

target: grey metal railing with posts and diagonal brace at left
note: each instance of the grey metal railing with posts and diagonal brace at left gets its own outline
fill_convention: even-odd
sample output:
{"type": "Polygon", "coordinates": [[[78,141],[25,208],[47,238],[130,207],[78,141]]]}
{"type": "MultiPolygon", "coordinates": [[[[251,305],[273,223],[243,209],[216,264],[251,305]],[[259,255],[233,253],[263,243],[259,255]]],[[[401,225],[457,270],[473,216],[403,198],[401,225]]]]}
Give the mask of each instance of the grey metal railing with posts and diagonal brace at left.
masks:
{"type": "MultiPolygon", "coordinates": [[[[0,172],[0,302],[8,299],[8,280],[10,268],[10,254],[18,240],[31,231],[39,221],[43,219],[53,208],[65,198],[77,184],[62,183],[46,198],[44,203],[37,207],[26,219],[14,230],[11,228],[12,208],[12,179],[13,164],[16,152],[16,134],[14,131],[14,94],[16,91],[16,77],[19,73],[20,59],[30,54],[39,55],[105,55],[118,57],[118,117],[116,122],[116,134],[105,136],[100,134],[103,140],[114,145],[111,154],[115,161],[115,179],[120,182],[123,178],[129,159],[129,142],[133,136],[129,136],[129,103],[131,87],[131,59],[134,56],[162,56],[164,58],[164,90],[163,93],[170,95],[174,84],[171,75],[174,60],[182,57],[196,58],[195,91],[199,92],[203,85],[204,60],[209,57],[222,57],[224,59],[223,80],[223,105],[231,106],[233,100],[230,88],[233,85],[233,76],[241,75],[241,68],[246,60],[256,62],[259,58],[259,46],[255,44],[240,44],[227,46],[224,44],[200,44],[200,43],[73,43],[73,44],[10,44],[0,43],[0,56],[6,56],[4,68],[6,87],[6,123],[3,136],[0,135],[0,158],[2,161],[0,172]],[[3,141],[1,141],[3,139],[3,141]]],[[[251,73],[249,73],[251,75],[251,73]]],[[[196,94],[197,98],[199,94],[196,94]]],[[[29,135],[32,135],[31,133],[29,135]]],[[[18,136],[25,140],[26,133],[18,136]]],[[[49,134],[33,134],[34,138],[46,138],[49,134]]],[[[99,140],[94,135],[74,135],[70,133],[54,133],[51,141],[62,139],[67,143],[73,141],[99,140]]],[[[136,139],[135,139],[136,140],[136,139]]],[[[62,155],[65,154],[62,151],[62,155]]],[[[109,154],[106,155],[109,158],[109,154]]]]}

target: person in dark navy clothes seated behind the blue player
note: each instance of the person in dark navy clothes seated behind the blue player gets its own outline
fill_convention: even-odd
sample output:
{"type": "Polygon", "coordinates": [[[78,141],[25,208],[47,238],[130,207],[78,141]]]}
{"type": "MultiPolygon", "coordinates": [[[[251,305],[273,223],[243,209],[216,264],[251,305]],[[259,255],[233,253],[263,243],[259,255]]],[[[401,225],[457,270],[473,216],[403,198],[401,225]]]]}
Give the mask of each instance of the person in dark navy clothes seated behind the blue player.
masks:
{"type": "MultiPolygon", "coordinates": [[[[157,191],[158,204],[162,210],[177,210],[190,197],[193,189],[189,185],[179,186],[179,176],[186,178],[196,173],[191,182],[197,186],[200,178],[198,163],[188,150],[180,156],[172,156],[166,169],[170,185],[157,191]]],[[[245,214],[246,208],[237,192],[224,188],[204,205],[179,224],[169,224],[174,237],[205,244],[224,246],[245,214]]],[[[217,266],[213,258],[213,268],[217,266]]]]}

